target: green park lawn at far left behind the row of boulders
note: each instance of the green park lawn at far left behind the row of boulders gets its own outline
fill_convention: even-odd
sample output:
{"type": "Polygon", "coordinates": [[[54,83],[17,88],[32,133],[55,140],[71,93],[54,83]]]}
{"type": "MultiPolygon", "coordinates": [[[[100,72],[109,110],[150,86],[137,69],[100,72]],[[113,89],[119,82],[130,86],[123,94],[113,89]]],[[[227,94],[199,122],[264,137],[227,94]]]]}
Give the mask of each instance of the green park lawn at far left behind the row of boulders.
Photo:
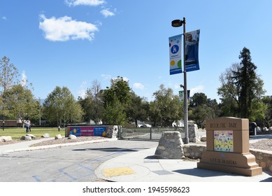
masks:
{"type": "MultiPolygon", "coordinates": [[[[65,136],[65,130],[64,128],[60,129],[60,131],[55,128],[36,128],[36,127],[31,127],[31,132],[28,134],[33,134],[34,136],[37,137],[37,139],[41,138],[41,136],[45,133],[48,133],[50,137],[55,137],[57,134],[62,134],[62,137],[65,136]]],[[[26,135],[26,128],[3,128],[1,127],[0,130],[0,137],[1,136],[10,136],[12,137],[13,140],[20,139],[22,136],[26,135]]]]}

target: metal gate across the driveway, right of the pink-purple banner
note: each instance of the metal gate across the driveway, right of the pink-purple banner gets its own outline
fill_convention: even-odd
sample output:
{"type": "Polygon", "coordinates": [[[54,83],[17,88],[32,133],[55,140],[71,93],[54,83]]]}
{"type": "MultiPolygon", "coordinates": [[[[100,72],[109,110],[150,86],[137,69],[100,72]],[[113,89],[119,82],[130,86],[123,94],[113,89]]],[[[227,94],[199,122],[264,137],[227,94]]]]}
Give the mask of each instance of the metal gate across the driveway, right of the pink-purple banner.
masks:
{"type": "Polygon", "coordinates": [[[159,140],[162,132],[178,131],[184,138],[184,127],[139,127],[139,128],[122,128],[120,130],[119,139],[143,139],[143,140],[159,140]]]}

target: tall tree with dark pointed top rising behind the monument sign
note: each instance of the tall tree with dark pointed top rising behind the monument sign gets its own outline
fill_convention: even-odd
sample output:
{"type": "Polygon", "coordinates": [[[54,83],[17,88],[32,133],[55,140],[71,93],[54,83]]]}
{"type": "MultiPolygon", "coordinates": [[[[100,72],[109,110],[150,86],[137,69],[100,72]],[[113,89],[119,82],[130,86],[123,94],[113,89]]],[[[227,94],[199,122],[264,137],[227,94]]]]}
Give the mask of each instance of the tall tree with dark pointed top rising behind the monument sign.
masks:
{"type": "Polygon", "coordinates": [[[236,116],[255,120],[262,118],[259,111],[262,108],[264,82],[257,76],[254,63],[251,62],[250,50],[243,48],[240,52],[240,64],[233,64],[220,76],[222,86],[218,88],[222,104],[222,116],[236,116]]]}

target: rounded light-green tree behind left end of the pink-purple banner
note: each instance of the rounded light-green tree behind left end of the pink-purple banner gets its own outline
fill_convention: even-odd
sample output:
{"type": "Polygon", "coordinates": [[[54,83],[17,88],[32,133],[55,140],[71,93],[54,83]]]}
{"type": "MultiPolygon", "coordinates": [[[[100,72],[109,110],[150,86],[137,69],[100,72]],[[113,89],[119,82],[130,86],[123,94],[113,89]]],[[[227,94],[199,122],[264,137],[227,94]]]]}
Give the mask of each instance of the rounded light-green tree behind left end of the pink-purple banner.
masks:
{"type": "Polygon", "coordinates": [[[55,87],[55,90],[48,94],[43,103],[43,113],[49,123],[61,125],[62,123],[82,122],[83,109],[76,102],[67,87],[55,87]]]}

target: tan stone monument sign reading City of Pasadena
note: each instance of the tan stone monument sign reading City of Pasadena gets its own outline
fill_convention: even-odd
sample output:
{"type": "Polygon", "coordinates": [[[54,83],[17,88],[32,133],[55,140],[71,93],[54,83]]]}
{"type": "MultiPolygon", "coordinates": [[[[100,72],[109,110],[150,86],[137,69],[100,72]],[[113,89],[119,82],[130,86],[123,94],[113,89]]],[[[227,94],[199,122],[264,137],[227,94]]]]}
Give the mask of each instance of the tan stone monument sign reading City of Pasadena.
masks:
{"type": "Polygon", "coordinates": [[[246,118],[222,117],[207,120],[207,151],[197,168],[243,176],[262,174],[249,148],[249,121],[246,118]]]}

